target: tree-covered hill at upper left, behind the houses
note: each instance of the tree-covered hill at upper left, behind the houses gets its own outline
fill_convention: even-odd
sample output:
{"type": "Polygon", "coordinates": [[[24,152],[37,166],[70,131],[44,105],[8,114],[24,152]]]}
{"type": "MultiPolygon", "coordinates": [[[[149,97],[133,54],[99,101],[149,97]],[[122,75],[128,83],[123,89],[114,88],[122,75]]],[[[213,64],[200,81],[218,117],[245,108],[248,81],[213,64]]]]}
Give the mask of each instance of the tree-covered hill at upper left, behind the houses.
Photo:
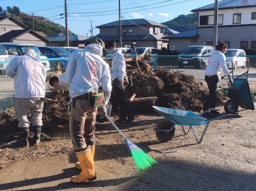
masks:
{"type": "MultiPolygon", "coordinates": [[[[26,26],[29,26],[29,28],[33,29],[33,23],[32,23],[32,15],[23,13],[20,11],[20,8],[17,6],[7,6],[6,10],[4,10],[0,6],[0,16],[12,16],[21,23],[25,24],[26,26]]],[[[61,17],[61,16],[60,16],[61,17]]],[[[34,29],[35,31],[42,31],[48,36],[56,33],[65,33],[65,27],[54,23],[53,21],[50,21],[44,17],[38,17],[34,15],[34,29]]],[[[69,34],[74,34],[73,32],[69,31],[69,34]]]]}

